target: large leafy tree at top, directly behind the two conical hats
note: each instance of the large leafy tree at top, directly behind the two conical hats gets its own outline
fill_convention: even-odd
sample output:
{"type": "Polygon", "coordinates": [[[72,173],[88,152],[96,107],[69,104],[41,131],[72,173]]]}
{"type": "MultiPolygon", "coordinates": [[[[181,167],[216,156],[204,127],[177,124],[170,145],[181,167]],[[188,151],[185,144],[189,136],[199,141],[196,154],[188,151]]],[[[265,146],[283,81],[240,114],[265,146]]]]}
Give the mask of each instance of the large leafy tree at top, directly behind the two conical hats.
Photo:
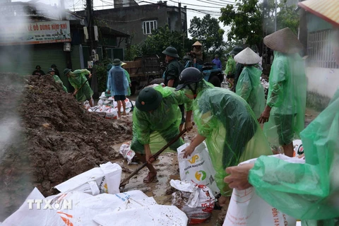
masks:
{"type": "MultiPolygon", "coordinates": [[[[221,8],[220,21],[230,25],[228,40],[246,40],[248,45],[256,45],[261,51],[263,28],[266,35],[274,32],[275,0],[239,0],[236,6],[221,8]],[[236,9],[237,7],[237,9],[236,9]],[[265,11],[263,12],[263,9],[265,11]]],[[[293,6],[287,6],[287,0],[279,1],[277,7],[277,30],[290,28],[295,34],[299,27],[299,16],[293,6]]]]}

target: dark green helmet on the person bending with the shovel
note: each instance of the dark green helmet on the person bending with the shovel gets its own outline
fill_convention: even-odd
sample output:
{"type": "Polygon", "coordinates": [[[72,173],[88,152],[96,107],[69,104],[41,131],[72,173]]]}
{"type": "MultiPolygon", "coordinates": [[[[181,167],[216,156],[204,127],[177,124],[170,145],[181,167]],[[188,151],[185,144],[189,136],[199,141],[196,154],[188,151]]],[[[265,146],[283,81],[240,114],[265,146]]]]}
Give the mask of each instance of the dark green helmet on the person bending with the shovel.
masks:
{"type": "Polygon", "coordinates": [[[150,112],[160,105],[162,94],[152,87],[146,87],[136,97],[136,108],[143,112],[150,112]]]}

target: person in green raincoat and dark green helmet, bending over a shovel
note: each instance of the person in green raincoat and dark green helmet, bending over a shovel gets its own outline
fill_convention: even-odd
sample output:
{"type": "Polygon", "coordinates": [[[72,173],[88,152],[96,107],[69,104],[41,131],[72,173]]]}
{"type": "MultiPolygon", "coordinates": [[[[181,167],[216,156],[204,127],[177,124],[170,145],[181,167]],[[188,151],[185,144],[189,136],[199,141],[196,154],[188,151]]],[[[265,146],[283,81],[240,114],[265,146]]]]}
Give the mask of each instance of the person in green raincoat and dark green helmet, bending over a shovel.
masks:
{"type": "MultiPolygon", "coordinates": [[[[191,100],[183,92],[175,92],[174,88],[157,85],[155,88],[146,87],[136,98],[136,108],[133,112],[133,138],[131,150],[139,159],[148,162],[150,172],[143,179],[144,183],[153,182],[157,171],[151,164],[152,154],[157,153],[169,141],[179,135],[179,124],[182,114],[178,105],[186,105],[187,118],[191,119],[191,100]]],[[[192,128],[190,120],[186,121],[185,128],[192,128]]],[[[169,146],[170,150],[177,151],[183,145],[182,138],[169,146]]]]}

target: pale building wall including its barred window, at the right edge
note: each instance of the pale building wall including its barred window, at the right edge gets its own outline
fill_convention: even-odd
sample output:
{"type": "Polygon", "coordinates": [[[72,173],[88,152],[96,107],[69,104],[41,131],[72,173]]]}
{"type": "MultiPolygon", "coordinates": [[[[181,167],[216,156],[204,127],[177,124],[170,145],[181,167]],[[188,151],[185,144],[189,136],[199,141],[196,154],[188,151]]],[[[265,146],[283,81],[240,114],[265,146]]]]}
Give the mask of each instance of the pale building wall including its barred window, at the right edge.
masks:
{"type": "Polygon", "coordinates": [[[306,29],[301,29],[306,47],[307,104],[310,107],[324,109],[339,86],[339,66],[335,64],[332,48],[333,27],[314,14],[303,9],[301,23],[306,29]]]}

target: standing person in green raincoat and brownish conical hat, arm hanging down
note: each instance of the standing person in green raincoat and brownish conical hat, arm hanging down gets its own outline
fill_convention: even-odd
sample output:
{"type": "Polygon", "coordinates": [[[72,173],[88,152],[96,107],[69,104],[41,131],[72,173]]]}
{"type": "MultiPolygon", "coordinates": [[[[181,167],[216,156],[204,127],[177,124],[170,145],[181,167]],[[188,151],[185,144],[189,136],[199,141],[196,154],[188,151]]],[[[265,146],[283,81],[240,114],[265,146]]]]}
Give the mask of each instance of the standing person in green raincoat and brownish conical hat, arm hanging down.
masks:
{"type": "Polygon", "coordinates": [[[263,42],[274,50],[266,108],[259,119],[268,142],[282,145],[293,156],[293,138],[304,129],[307,81],[304,61],[298,54],[302,44],[290,28],[266,36],[263,42]],[[267,123],[266,123],[267,122],[267,123]]]}

